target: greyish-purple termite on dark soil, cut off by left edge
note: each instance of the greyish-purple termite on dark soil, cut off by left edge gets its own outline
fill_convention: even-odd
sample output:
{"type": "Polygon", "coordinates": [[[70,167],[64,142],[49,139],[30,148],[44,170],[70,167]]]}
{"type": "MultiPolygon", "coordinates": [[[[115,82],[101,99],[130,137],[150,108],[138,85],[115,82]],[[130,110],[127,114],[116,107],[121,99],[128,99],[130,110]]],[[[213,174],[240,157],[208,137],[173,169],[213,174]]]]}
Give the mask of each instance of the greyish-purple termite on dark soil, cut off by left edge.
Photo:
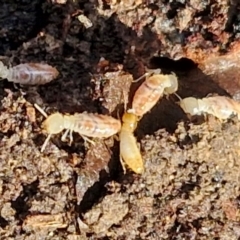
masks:
{"type": "Polygon", "coordinates": [[[0,61],[0,77],[24,85],[43,85],[59,75],[56,68],[43,63],[23,63],[8,68],[0,61]]]}

